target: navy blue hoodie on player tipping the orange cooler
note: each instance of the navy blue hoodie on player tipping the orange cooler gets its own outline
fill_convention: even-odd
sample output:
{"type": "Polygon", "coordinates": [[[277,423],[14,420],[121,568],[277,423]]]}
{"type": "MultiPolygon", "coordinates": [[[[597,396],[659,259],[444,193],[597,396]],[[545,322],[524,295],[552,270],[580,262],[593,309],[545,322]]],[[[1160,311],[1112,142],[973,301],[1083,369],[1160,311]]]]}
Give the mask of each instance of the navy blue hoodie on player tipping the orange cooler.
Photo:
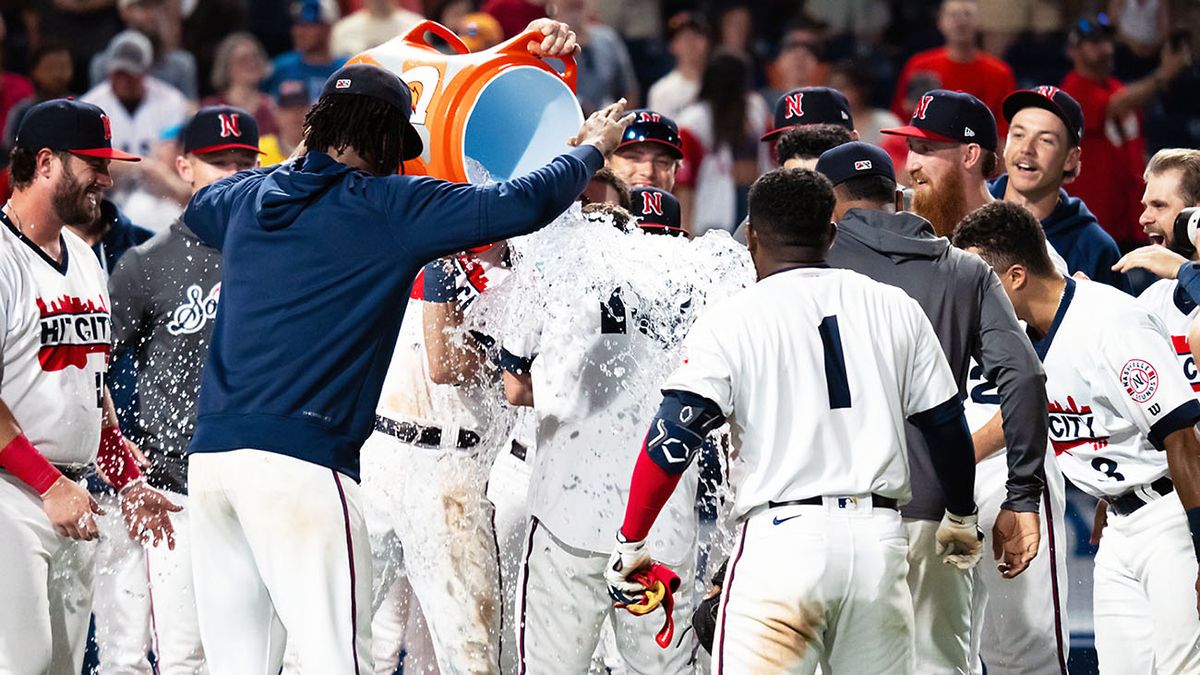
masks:
{"type": "Polygon", "coordinates": [[[308,153],[200,190],[184,222],[224,259],[190,453],[257,448],[359,478],[359,447],[428,261],[533,232],[604,157],[487,186],[372,177],[308,153]]]}

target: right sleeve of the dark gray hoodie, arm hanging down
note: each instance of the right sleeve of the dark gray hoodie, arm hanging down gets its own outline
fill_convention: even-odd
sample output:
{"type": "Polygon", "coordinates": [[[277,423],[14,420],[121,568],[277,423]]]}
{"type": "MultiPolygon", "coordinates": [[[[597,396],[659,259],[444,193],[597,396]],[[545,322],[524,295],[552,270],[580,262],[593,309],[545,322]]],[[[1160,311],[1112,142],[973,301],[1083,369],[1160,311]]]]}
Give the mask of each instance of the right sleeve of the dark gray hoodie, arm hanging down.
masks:
{"type": "Polygon", "coordinates": [[[979,310],[979,363],[1000,390],[1003,414],[1008,496],[1001,508],[1037,513],[1045,485],[1045,372],[1000,279],[990,270],[979,310]]]}

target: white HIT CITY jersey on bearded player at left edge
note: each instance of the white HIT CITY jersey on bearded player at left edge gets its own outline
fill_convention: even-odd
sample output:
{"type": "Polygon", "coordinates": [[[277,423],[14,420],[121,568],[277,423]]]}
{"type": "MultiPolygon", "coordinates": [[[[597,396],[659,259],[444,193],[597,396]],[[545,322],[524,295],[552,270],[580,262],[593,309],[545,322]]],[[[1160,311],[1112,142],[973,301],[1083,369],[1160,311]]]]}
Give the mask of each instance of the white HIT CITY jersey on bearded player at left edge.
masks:
{"type": "Polygon", "coordinates": [[[100,447],[112,341],[108,280],[91,249],[62,231],[62,263],[0,214],[0,400],[53,464],[100,447]]]}

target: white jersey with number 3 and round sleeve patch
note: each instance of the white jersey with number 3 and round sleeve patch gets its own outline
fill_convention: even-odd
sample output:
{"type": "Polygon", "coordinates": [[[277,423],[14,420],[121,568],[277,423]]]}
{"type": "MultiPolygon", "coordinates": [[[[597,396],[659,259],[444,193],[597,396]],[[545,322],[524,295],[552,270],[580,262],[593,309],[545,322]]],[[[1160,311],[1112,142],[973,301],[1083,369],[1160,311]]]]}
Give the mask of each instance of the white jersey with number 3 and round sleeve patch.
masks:
{"type": "Polygon", "coordinates": [[[1200,402],[1157,316],[1121,291],[1068,279],[1033,347],[1046,371],[1050,443],[1072,483],[1104,497],[1166,476],[1162,438],[1194,422],[1200,402]]]}

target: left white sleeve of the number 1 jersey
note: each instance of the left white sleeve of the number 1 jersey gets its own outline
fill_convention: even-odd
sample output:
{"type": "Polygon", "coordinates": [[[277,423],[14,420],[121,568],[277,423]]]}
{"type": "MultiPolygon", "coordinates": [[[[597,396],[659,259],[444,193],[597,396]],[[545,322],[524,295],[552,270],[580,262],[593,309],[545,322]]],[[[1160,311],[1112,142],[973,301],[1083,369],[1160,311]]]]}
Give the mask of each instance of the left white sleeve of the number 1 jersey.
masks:
{"type": "MultiPolygon", "coordinates": [[[[732,335],[721,336],[722,312],[707,312],[691,327],[683,344],[683,364],[667,377],[662,389],[691,392],[733,414],[733,365],[726,351],[732,335]]],[[[727,325],[728,323],[726,323],[727,325]]]]}

